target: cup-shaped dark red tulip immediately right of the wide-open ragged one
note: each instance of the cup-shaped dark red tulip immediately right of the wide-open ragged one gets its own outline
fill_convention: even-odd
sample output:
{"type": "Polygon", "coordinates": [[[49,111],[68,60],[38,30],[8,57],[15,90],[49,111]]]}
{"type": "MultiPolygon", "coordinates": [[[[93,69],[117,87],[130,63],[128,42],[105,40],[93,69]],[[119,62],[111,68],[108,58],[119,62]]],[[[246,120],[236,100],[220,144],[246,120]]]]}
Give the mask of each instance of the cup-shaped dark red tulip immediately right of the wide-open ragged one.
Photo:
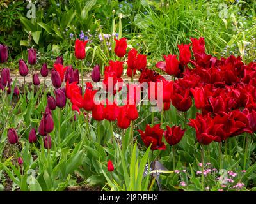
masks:
{"type": "Polygon", "coordinates": [[[176,145],[180,142],[184,133],[185,129],[181,129],[180,126],[172,126],[172,128],[166,126],[166,131],[164,131],[164,137],[169,145],[176,145]]]}

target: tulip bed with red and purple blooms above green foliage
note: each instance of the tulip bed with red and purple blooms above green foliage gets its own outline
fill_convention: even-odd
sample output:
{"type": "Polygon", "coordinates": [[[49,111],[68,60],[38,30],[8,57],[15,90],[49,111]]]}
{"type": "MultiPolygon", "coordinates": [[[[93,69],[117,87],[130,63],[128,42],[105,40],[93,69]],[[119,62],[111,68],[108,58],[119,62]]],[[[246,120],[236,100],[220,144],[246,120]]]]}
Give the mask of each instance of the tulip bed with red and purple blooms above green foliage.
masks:
{"type": "Polygon", "coordinates": [[[0,44],[0,190],[255,191],[256,62],[204,36],[152,59],[118,19],[53,62],[0,44]]]}

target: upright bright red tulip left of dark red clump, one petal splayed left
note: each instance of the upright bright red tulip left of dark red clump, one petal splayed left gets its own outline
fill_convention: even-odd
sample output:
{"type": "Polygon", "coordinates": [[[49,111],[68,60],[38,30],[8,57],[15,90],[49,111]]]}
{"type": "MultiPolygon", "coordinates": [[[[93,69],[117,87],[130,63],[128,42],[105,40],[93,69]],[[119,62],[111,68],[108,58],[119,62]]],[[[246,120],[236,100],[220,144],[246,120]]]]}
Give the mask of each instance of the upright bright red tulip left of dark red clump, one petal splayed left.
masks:
{"type": "Polygon", "coordinates": [[[165,71],[168,75],[179,76],[180,69],[179,69],[179,61],[177,60],[177,55],[164,55],[164,59],[166,62],[165,71]]]}

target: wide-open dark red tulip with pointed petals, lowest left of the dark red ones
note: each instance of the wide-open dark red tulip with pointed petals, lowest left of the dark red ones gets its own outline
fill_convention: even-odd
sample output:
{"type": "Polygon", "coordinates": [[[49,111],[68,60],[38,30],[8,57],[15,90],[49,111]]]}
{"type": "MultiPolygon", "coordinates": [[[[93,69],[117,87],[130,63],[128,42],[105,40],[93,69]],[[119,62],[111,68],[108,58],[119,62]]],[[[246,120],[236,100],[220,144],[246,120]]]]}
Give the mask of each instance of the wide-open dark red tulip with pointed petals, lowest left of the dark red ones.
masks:
{"type": "Polygon", "coordinates": [[[145,143],[146,147],[151,144],[151,150],[165,150],[166,146],[162,142],[164,130],[160,128],[160,124],[156,124],[151,128],[148,124],[145,129],[145,133],[140,129],[138,132],[141,135],[141,139],[145,143]]]}

